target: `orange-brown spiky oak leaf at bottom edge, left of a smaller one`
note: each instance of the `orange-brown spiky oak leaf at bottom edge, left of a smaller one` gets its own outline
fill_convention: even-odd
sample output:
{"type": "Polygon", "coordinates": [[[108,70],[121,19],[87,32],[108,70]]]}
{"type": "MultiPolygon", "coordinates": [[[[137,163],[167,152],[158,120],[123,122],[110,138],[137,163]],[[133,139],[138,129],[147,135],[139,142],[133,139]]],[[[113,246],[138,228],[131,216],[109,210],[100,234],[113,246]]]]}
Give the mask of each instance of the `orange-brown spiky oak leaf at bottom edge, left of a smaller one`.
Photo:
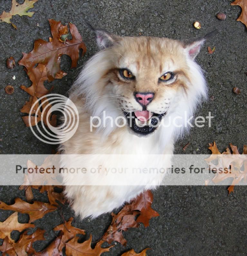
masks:
{"type": "Polygon", "coordinates": [[[107,248],[101,248],[104,241],[100,240],[95,248],[92,249],[92,235],[90,235],[89,240],[86,240],[83,243],[78,243],[78,239],[79,237],[75,237],[65,244],[66,256],[100,256],[103,252],[109,251],[109,249],[113,247],[109,246],[107,248]]]}

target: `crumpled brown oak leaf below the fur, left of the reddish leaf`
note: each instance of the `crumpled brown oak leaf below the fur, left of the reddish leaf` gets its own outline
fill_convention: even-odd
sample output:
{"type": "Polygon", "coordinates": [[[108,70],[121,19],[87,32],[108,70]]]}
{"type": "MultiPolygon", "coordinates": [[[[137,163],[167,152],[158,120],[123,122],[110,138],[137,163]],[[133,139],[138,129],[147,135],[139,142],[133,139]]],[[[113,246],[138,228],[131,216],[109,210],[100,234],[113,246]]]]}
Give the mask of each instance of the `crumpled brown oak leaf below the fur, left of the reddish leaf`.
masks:
{"type": "Polygon", "coordinates": [[[127,204],[122,208],[122,210],[116,215],[111,213],[112,222],[102,240],[111,244],[113,241],[119,242],[120,244],[126,246],[127,241],[123,237],[123,231],[127,231],[129,228],[138,228],[139,224],[136,222],[135,217],[139,212],[133,212],[131,204],[127,204]]]}

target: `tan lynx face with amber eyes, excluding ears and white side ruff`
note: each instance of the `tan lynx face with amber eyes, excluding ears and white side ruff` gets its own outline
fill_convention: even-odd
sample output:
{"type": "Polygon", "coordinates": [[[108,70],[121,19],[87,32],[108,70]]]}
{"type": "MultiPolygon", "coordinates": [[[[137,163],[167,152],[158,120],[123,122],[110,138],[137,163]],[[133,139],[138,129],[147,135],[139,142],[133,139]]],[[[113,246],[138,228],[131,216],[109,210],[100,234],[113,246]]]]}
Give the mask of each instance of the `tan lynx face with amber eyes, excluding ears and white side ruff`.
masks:
{"type": "Polygon", "coordinates": [[[186,94],[186,51],[178,41],[157,37],[123,37],[112,50],[118,54],[107,89],[122,96],[114,103],[132,131],[152,133],[186,94]]]}

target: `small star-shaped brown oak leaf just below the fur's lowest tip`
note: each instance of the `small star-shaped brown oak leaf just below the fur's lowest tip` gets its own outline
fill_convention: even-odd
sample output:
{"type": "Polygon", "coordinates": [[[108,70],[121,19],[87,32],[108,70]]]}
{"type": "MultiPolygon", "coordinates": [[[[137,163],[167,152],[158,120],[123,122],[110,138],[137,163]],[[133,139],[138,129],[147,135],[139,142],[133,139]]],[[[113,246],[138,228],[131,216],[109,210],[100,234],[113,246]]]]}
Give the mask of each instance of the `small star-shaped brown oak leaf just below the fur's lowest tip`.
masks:
{"type": "Polygon", "coordinates": [[[73,218],[71,217],[68,221],[53,229],[54,231],[60,231],[59,235],[61,236],[61,243],[58,246],[58,250],[60,252],[62,252],[62,248],[65,246],[65,243],[74,238],[77,234],[85,235],[85,230],[78,229],[71,225],[72,220],[73,218]]]}

